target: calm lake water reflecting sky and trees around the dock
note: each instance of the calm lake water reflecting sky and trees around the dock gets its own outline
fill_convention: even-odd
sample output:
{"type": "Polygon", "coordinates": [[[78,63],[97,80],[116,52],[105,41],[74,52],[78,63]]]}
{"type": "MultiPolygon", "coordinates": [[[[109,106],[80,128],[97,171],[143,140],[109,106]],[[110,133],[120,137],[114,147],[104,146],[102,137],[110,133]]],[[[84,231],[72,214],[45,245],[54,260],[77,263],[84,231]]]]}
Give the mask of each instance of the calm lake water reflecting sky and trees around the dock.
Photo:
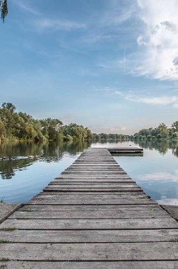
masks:
{"type": "Polygon", "coordinates": [[[178,205],[178,142],[6,142],[0,144],[0,199],[24,203],[42,191],[88,147],[144,148],[143,156],[114,156],[120,166],[159,204],[178,205]],[[38,155],[38,159],[27,159],[38,155]],[[16,157],[16,158],[15,158],[16,157]]]}

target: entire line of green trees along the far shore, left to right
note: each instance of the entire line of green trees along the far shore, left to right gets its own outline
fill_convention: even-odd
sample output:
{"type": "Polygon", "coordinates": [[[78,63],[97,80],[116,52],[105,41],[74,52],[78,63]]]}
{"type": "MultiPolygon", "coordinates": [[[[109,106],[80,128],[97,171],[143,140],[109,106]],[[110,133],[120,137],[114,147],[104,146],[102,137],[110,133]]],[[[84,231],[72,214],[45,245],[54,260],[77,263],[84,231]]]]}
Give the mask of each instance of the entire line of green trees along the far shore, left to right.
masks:
{"type": "Polygon", "coordinates": [[[95,134],[88,127],[70,123],[63,125],[59,119],[48,117],[35,120],[26,112],[16,112],[11,102],[0,107],[0,139],[11,140],[98,140],[101,139],[178,139],[178,121],[168,128],[164,123],[156,128],[142,129],[135,135],[95,134]]]}

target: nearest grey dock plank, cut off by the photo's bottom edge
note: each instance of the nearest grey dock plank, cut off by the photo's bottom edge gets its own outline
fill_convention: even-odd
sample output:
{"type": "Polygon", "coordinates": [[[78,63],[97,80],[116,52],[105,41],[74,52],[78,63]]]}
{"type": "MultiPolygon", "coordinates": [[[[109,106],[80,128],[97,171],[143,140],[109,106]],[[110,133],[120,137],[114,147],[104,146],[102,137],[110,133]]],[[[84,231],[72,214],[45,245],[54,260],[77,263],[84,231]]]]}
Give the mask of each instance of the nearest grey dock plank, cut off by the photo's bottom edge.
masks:
{"type": "Polygon", "coordinates": [[[177,261],[117,261],[117,262],[33,262],[12,261],[1,263],[2,269],[177,269],[177,261]]]}

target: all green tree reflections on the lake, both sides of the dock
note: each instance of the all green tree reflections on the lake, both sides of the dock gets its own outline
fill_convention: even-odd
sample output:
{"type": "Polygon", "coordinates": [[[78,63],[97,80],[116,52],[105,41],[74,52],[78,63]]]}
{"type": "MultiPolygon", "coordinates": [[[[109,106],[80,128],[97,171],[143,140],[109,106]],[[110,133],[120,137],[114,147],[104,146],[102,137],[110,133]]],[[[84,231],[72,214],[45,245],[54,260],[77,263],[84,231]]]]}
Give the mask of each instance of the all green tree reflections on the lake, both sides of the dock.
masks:
{"type": "MultiPolygon", "coordinates": [[[[105,144],[107,140],[101,140],[105,144]]],[[[125,142],[125,140],[110,140],[109,142],[125,142]]],[[[172,154],[178,157],[178,141],[134,141],[135,146],[144,149],[156,149],[160,154],[166,154],[168,149],[172,149],[172,154]]],[[[0,160],[1,179],[12,179],[16,171],[27,169],[35,162],[59,162],[64,154],[75,157],[79,152],[90,147],[91,142],[1,142],[0,157],[11,156],[11,160],[0,160]],[[28,159],[27,156],[38,156],[36,159],[28,159]]]]}

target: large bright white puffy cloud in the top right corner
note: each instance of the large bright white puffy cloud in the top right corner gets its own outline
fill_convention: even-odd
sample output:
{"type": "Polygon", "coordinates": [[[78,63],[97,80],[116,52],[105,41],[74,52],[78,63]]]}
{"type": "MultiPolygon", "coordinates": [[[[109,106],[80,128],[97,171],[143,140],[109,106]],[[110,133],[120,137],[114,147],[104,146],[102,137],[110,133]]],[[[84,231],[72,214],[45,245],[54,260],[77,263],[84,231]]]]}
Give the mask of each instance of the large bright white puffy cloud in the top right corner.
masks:
{"type": "Polygon", "coordinates": [[[138,75],[151,75],[161,80],[178,79],[178,1],[137,0],[140,19],[145,29],[137,37],[145,48],[137,66],[138,75]]]}

